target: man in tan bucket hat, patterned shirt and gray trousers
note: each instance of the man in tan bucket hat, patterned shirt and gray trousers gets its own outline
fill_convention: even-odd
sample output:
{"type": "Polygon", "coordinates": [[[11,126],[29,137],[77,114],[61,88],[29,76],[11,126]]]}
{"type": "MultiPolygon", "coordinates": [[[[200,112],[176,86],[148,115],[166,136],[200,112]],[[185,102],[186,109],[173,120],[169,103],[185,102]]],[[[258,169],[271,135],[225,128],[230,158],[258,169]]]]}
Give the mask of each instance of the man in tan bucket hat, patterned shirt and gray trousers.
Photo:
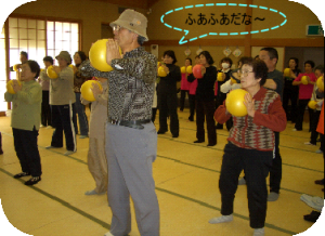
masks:
{"type": "Polygon", "coordinates": [[[101,73],[89,63],[81,65],[83,75],[108,78],[105,143],[113,219],[110,232],[105,236],[130,233],[130,195],[140,234],[158,236],[159,206],[152,172],[157,132],[151,121],[157,60],[141,47],[148,40],[144,15],[126,10],[110,26],[115,37],[107,41],[106,61],[114,70],[101,73]]]}

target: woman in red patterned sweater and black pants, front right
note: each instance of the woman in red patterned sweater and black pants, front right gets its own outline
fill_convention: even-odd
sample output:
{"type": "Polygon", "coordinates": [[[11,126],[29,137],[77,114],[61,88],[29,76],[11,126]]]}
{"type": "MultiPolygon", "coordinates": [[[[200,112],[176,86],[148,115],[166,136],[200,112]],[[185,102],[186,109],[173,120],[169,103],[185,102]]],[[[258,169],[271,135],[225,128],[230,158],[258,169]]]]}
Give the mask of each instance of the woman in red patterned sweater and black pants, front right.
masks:
{"type": "MultiPolygon", "coordinates": [[[[224,147],[219,180],[222,215],[209,221],[217,224],[233,220],[238,176],[244,169],[253,236],[264,235],[268,202],[265,179],[272,165],[274,131],[281,132],[286,128],[286,115],[280,95],[262,87],[266,76],[268,67],[262,61],[251,60],[242,67],[240,83],[248,92],[244,101],[248,114],[244,117],[233,116],[234,126],[224,147]]],[[[220,123],[231,117],[224,104],[214,113],[214,118],[220,123]]]]}

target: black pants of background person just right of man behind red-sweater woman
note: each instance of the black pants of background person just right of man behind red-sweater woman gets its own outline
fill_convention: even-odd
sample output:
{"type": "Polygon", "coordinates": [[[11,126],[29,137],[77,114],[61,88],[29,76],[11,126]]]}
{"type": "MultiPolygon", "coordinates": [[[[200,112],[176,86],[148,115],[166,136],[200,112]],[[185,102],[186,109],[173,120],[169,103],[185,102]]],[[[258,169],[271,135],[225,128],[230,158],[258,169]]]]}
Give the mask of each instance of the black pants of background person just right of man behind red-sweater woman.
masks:
{"type": "Polygon", "coordinates": [[[286,112],[287,120],[296,122],[297,118],[297,102],[298,102],[299,90],[296,88],[284,88],[283,91],[283,108],[286,112]],[[289,108],[289,101],[291,107],[289,108]]]}

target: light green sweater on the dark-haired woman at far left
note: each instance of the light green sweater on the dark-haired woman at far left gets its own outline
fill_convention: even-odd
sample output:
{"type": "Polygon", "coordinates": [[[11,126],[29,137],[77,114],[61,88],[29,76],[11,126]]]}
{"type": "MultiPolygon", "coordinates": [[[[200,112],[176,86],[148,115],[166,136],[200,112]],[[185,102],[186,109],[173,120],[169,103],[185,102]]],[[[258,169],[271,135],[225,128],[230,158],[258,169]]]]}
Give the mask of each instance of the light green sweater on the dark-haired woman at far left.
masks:
{"type": "Polygon", "coordinates": [[[22,82],[22,91],[4,93],[4,100],[12,102],[11,127],[21,130],[39,130],[41,118],[42,88],[35,81],[22,82]]]}

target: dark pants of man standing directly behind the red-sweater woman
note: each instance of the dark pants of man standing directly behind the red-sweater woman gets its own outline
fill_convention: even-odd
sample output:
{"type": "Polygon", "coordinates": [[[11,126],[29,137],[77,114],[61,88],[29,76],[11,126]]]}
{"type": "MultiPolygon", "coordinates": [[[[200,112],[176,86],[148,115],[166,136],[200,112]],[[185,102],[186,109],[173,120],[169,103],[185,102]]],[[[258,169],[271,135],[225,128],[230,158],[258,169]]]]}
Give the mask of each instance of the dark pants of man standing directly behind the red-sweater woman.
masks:
{"type": "Polygon", "coordinates": [[[272,167],[270,169],[270,192],[280,193],[282,180],[282,158],[280,155],[280,132],[274,132],[274,152],[272,159],[272,167]]]}

